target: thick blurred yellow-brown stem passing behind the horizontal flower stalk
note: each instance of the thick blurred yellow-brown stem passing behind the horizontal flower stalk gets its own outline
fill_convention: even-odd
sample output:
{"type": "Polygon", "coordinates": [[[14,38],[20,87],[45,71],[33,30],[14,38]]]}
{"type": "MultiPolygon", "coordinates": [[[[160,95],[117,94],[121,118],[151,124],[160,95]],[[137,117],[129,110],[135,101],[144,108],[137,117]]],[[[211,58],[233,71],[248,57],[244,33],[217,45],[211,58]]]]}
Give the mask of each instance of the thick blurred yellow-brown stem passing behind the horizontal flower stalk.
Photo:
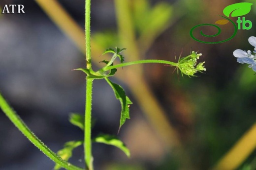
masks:
{"type": "MultiPolygon", "coordinates": [[[[117,23],[118,30],[120,35],[120,40],[122,42],[122,46],[128,49],[126,51],[127,56],[132,56],[131,61],[139,60],[140,56],[145,55],[146,48],[140,49],[138,42],[135,38],[134,26],[131,20],[127,20],[127,16],[132,15],[132,11],[130,8],[131,0],[115,0],[115,9],[117,11],[117,23]],[[133,29],[133,30],[127,30],[133,29]],[[132,34],[130,35],[129,33],[132,34]],[[131,37],[131,38],[130,38],[131,37]],[[135,52],[133,52],[135,51],[135,52]],[[139,53],[137,52],[139,51],[139,53]],[[136,56],[135,56],[136,55],[136,56]]],[[[149,40],[147,40],[149,41],[149,40]]],[[[144,42],[140,42],[144,43],[144,42]]],[[[111,68],[110,68],[111,69],[111,68]]],[[[156,129],[157,134],[160,136],[161,140],[164,143],[165,149],[168,150],[170,147],[177,148],[177,152],[183,161],[182,169],[190,169],[192,168],[192,163],[189,159],[189,154],[187,150],[184,148],[182,141],[179,139],[179,135],[174,126],[168,121],[166,117],[165,111],[161,108],[159,101],[154,97],[154,93],[150,89],[147,81],[143,76],[143,70],[141,65],[136,65],[133,67],[128,67],[125,71],[125,78],[120,77],[126,84],[128,84],[132,94],[138,101],[139,106],[142,111],[145,113],[146,118],[153,125],[154,129],[156,129]],[[187,161],[188,160],[188,161],[187,161]]]]}

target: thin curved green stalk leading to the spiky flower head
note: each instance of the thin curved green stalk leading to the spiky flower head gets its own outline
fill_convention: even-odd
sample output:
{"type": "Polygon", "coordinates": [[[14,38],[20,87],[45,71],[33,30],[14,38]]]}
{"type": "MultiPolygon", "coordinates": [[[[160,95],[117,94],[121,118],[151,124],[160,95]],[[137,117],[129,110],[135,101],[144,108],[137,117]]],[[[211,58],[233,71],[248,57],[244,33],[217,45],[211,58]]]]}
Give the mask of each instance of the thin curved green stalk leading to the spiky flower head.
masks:
{"type": "Polygon", "coordinates": [[[125,66],[129,66],[129,65],[134,65],[134,64],[146,64],[146,63],[160,63],[160,64],[167,64],[168,66],[178,66],[178,63],[174,63],[174,62],[166,61],[166,60],[138,60],[138,61],[131,61],[131,62],[127,62],[127,63],[117,64],[114,66],[104,67],[104,68],[102,68],[102,70],[108,71],[111,69],[117,69],[119,67],[125,67],[125,66]]]}

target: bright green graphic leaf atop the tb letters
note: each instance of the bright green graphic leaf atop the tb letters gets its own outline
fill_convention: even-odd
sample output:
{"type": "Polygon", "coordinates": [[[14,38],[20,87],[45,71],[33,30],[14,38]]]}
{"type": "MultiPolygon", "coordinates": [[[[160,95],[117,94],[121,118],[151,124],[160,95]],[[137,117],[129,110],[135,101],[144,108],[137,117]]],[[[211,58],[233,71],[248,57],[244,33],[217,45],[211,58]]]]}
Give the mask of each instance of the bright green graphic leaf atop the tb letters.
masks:
{"type": "Polygon", "coordinates": [[[253,3],[249,2],[240,2],[234,3],[232,5],[228,5],[224,8],[223,13],[225,16],[229,17],[230,13],[231,17],[239,17],[248,14],[251,11],[251,6],[253,3]]]}

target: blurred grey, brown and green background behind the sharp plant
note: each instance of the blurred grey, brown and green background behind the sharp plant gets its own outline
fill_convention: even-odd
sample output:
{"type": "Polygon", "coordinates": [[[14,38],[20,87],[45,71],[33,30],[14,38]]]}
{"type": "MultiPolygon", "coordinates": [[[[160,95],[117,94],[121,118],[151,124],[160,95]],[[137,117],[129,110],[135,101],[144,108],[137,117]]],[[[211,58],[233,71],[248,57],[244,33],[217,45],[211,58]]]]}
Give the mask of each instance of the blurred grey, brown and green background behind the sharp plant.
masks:
{"type": "MultiPolygon", "coordinates": [[[[99,61],[109,58],[101,56],[104,50],[116,46],[127,48],[126,61],[176,61],[175,54],[178,59],[199,51],[207,69],[191,78],[160,64],[119,69],[111,80],[121,84],[133,101],[130,120],[119,134],[131,158],[114,146],[93,144],[95,170],[208,170],[253,126],[256,75],[247,65],[237,63],[232,53],[235,49],[253,51],[248,38],[256,36],[256,5],[245,16],[252,21],[252,29],[238,30],[230,41],[203,44],[190,36],[193,26],[214,24],[222,19],[218,15],[223,15],[224,7],[237,2],[241,1],[92,0],[94,70],[104,66],[99,61]]],[[[38,138],[57,152],[65,142],[83,139],[83,132],[68,118],[85,109],[85,74],[71,71],[85,68],[84,1],[1,0],[0,6],[4,4],[23,4],[26,13],[0,14],[0,91],[38,138]],[[58,24],[62,13],[53,1],[81,28],[69,29],[72,23],[64,19],[64,28],[58,24]],[[49,17],[46,9],[57,19],[49,17]],[[72,38],[74,34],[82,36],[72,38]]],[[[233,34],[232,24],[220,27],[222,33],[209,41],[222,41],[233,34]]],[[[200,29],[195,32],[199,38],[200,29]]],[[[211,27],[203,29],[206,34],[216,33],[211,27]]],[[[92,135],[116,135],[120,110],[109,85],[95,80],[92,135]]],[[[255,138],[256,134],[250,141],[255,138]]],[[[245,150],[252,145],[250,141],[245,141],[245,150]]],[[[242,149],[227,164],[246,155],[235,169],[256,170],[256,152],[254,147],[249,150],[246,154],[242,149]]],[[[83,155],[83,147],[74,149],[70,162],[84,167],[83,155]]],[[[0,170],[53,167],[0,111],[0,170]]]]}

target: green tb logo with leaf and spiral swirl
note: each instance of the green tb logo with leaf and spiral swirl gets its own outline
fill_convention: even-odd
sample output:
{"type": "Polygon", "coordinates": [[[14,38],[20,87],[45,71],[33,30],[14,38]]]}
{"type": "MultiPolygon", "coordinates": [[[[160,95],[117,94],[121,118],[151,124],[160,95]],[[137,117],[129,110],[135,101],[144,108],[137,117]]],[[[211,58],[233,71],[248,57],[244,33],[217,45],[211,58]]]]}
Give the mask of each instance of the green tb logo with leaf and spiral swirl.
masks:
{"type": "Polygon", "coordinates": [[[200,35],[204,36],[204,37],[216,37],[218,35],[221,34],[221,28],[215,24],[199,24],[199,25],[195,25],[194,27],[191,28],[190,30],[190,36],[192,37],[192,39],[194,39],[195,41],[198,41],[200,43],[205,43],[205,44],[219,44],[219,43],[224,43],[226,41],[231,40],[232,38],[235,37],[237,30],[238,29],[251,29],[253,26],[253,23],[250,20],[246,20],[245,17],[241,17],[244,16],[246,14],[248,14],[251,11],[251,6],[253,5],[253,3],[249,3],[249,2],[240,2],[240,3],[234,3],[232,5],[228,5],[224,8],[223,13],[225,16],[219,15],[220,17],[224,18],[222,20],[218,20],[215,22],[215,24],[220,24],[220,25],[224,25],[224,24],[228,24],[229,22],[231,24],[233,24],[234,26],[234,32],[231,35],[231,37],[223,40],[223,41],[217,41],[217,42],[207,42],[207,41],[201,41],[197,38],[195,38],[193,36],[193,30],[199,26],[214,26],[218,29],[218,32],[214,35],[206,35],[203,33],[203,30],[200,31],[200,35]],[[237,25],[236,23],[234,23],[232,20],[229,19],[229,15],[231,14],[231,17],[237,17],[237,25]]]}

